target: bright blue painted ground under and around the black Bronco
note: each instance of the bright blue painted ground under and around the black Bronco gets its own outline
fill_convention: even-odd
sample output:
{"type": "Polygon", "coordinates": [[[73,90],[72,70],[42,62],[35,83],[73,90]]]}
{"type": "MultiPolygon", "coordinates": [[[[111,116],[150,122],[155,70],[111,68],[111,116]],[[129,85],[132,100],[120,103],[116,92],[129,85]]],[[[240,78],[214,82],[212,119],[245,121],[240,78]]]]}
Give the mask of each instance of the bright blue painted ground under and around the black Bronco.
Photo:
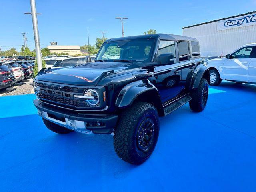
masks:
{"type": "Polygon", "coordinates": [[[161,118],[140,166],[116,156],[111,135],[50,132],[34,98],[0,98],[0,191],[256,191],[256,86],[222,82],[203,112],[161,118]]]}

